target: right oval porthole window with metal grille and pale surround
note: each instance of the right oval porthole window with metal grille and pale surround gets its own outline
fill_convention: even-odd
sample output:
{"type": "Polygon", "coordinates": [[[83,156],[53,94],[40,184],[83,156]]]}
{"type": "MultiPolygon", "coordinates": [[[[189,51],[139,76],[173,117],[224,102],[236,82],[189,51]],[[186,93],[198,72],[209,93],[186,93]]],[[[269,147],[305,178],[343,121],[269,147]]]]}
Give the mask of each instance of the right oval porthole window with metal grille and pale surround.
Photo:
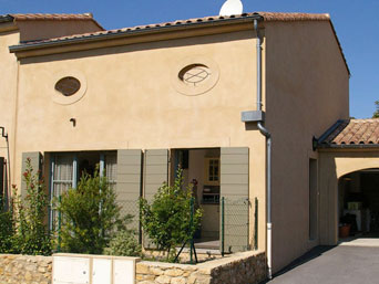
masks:
{"type": "Polygon", "coordinates": [[[205,56],[191,56],[180,62],[172,72],[172,85],[186,96],[197,96],[211,91],[217,83],[217,64],[205,56]]]}

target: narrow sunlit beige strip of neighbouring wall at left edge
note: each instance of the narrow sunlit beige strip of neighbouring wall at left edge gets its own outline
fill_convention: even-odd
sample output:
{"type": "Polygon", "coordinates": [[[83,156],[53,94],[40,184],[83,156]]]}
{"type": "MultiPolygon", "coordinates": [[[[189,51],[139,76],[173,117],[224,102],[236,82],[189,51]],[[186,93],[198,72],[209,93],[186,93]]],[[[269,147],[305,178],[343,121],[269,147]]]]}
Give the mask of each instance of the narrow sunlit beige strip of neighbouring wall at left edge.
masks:
{"type": "MultiPolygon", "coordinates": [[[[0,24],[0,126],[3,126],[9,135],[10,160],[12,161],[18,62],[14,54],[9,53],[8,46],[19,42],[19,32],[14,28],[7,29],[8,31],[2,31],[1,29],[2,25],[0,24]]],[[[7,140],[0,136],[0,157],[4,157],[8,160],[7,147],[7,140]]]]}

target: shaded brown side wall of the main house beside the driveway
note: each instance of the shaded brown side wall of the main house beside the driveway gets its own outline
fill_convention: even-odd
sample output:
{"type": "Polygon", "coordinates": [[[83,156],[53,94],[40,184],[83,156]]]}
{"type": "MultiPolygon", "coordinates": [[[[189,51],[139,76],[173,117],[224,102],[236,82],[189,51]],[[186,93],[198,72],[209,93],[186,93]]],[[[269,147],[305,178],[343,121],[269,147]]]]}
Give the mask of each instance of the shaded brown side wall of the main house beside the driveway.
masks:
{"type": "Polygon", "coordinates": [[[349,74],[329,22],[267,23],[266,127],[273,135],[273,269],[309,241],[313,136],[349,117],[349,74]]]}

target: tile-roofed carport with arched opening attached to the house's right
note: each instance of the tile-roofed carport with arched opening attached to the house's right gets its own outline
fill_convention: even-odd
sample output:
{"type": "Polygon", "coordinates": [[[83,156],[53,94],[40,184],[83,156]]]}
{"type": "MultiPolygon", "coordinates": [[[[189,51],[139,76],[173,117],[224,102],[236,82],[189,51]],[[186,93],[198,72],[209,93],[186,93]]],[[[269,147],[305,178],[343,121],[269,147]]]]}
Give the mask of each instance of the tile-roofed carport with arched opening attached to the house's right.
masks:
{"type": "Polygon", "coordinates": [[[320,244],[337,244],[348,224],[350,235],[378,236],[379,119],[338,120],[318,145],[320,244]]]}

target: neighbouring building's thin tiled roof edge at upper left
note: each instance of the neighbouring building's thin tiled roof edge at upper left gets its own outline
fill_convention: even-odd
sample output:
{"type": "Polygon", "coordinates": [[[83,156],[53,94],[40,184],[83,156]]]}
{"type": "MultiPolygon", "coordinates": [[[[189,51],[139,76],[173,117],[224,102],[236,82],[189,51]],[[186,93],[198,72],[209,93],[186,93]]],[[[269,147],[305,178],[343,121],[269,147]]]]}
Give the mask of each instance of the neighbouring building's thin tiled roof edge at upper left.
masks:
{"type": "Polygon", "coordinates": [[[0,15],[0,22],[12,21],[92,21],[104,30],[92,13],[10,13],[0,15]]]}

